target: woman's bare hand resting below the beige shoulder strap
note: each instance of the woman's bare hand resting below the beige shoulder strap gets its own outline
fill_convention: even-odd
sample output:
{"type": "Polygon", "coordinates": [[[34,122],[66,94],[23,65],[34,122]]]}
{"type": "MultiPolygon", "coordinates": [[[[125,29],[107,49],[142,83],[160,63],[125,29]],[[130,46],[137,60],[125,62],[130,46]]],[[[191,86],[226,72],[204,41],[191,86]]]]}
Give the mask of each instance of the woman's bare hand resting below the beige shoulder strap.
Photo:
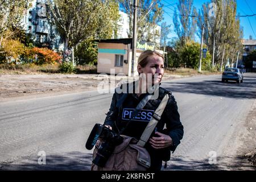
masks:
{"type": "Polygon", "coordinates": [[[166,148],[172,145],[172,139],[169,135],[159,133],[158,131],[156,131],[155,134],[159,135],[159,137],[150,138],[150,144],[153,148],[160,149],[160,148],[166,148]]]}

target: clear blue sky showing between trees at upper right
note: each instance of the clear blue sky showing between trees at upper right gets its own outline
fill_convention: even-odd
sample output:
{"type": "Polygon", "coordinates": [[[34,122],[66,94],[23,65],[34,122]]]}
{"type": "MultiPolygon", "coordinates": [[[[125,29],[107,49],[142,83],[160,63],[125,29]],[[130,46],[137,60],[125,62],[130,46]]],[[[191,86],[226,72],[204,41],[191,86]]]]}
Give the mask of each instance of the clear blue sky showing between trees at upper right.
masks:
{"type": "MultiPolygon", "coordinates": [[[[209,1],[210,0],[194,0],[193,6],[195,6],[198,11],[199,9],[201,9],[204,2],[209,1]]],[[[170,38],[176,37],[177,35],[174,32],[174,23],[172,22],[172,16],[179,0],[161,0],[161,2],[164,4],[165,11],[163,21],[167,22],[167,24],[172,25],[171,30],[173,32],[170,34],[170,38]]],[[[240,13],[240,15],[256,14],[256,0],[237,0],[237,13],[240,13]]],[[[241,17],[240,20],[241,26],[243,27],[243,38],[249,39],[249,36],[251,35],[253,36],[253,39],[256,39],[256,16],[241,17]],[[250,20],[251,26],[248,19],[250,20]]]]}

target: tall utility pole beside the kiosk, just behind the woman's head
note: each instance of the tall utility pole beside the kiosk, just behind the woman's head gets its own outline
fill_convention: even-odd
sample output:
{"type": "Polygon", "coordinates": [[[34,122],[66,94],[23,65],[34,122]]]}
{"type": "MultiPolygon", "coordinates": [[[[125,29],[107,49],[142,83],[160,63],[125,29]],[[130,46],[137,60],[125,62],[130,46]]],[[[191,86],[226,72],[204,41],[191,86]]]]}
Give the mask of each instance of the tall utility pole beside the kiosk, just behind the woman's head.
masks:
{"type": "Polygon", "coordinates": [[[134,63],[136,61],[137,51],[137,0],[133,2],[133,52],[131,57],[131,74],[134,76],[134,63]]]}

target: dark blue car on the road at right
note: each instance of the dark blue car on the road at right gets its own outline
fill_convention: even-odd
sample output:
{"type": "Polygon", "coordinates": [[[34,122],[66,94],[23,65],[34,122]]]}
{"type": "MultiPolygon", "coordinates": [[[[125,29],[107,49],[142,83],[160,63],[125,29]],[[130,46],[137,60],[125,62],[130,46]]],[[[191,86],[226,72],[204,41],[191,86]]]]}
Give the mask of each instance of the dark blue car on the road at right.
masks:
{"type": "Polygon", "coordinates": [[[243,82],[243,73],[240,71],[239,68],[226,68],[222,73],[221,81],[237,81],[238,84],[243,82]]]}

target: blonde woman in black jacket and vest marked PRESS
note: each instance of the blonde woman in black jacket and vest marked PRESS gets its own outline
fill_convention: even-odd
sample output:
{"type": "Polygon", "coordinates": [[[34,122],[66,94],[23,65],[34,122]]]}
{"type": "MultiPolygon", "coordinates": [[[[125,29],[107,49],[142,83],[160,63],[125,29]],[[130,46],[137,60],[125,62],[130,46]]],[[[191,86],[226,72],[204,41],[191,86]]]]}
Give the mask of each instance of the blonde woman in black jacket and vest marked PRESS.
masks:
{"type": "MultiPolygon", "coordinates": [[[[152,86],[158,85],[164,74],[163,56],[156,51],[144,51],[141,56],[139,56],[137,68],[139,75],[143,73],[147,77],[146,84],[143,82],[143,79],[139,79],[138,85],[148,85],[148,83],[152,84],[152,86]]],[[[135,85],[135,82],[133,82],[133,85],[135,85]]],[[[150,170],[157,171],[162,168],[162,160],[169,160],[170,151],[175,151],[183,137],[183,125],[180,122],[177,104],[171,92],[159,87],[157,90],[159,92],[158,97],[154,100],[149,100],[137,117],[131,119],[132,111],[143,97],[148,94],[143,93],[141,87],[138,93],[135,92],[135,89],[133,91],[133,93],[129,92],[123,101],[121,101],[122,93],[114,93],[104,125],[110,127],[110,129],[113,129],[117,133],[122,131],[121,134],[123,135],[139,139],[147,123],[150,121],[152,113],[154,113],[162,101],[162,98],[168,94],[169,99],[162,117],[156,125],[152,137],[144,146],[151,157],[150,170]],[[122,102],[121,105],[120,102],[122,102]],[[127,122],[129,122],[129,124],[127,122]],[[164,125],[166,125],[166,129],[164,129],[164,125]]]]}

